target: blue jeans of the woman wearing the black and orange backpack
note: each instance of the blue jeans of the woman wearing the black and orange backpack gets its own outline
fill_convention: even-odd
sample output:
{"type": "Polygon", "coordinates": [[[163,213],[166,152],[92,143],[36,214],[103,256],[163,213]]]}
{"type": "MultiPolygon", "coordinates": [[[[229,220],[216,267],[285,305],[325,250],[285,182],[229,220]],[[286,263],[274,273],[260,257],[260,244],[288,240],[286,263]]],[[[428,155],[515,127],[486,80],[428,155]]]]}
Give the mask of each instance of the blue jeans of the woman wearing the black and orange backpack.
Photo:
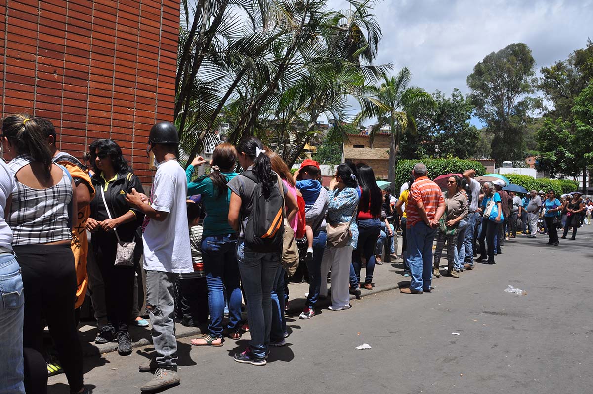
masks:
{"type": "Polygon", "coordinates": [[[272,288],[280,266],[280,253],[253,252],[243,239],[237,241],[237,262],[247,302],[251,340],[249,347],[256,357],[266,356],[272,329],[272,288]]]}

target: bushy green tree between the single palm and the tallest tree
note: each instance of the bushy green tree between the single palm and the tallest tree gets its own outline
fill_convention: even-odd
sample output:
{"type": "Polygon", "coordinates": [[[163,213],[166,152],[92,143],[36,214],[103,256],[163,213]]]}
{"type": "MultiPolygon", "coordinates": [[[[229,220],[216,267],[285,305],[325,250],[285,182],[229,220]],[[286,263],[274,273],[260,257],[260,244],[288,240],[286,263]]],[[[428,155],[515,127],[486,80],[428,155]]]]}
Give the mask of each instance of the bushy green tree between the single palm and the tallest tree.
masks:
{"type": "Polygon", "coordinates": [[[471,100],[457,88],[451,97],[440,91],[432,97],[435,105],[419,106],[414,113],[416,141],[431,157],[474,157],[480,133],[470,124],[474,111],[471,100]]]}

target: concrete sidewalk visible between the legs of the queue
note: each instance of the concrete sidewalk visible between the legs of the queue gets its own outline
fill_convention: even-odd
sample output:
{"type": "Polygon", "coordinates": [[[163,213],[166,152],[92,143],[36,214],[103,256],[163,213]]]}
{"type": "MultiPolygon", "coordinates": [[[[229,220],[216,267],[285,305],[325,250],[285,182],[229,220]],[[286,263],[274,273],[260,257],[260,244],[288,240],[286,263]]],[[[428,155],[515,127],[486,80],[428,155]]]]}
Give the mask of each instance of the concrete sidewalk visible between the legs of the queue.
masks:
{"type": "MultiPolygon", "coordinates": [[[[401,234],[398,235],[398,256],[401,255],[401,234]]],[[[361,277],[364,277],[365,269],[361,270],[361,277]]],[[[373,274],[374,287],[372,290],[361,289],[362,297],[370,294],[381,293],[382,291],[393,290],[398,288],[398,282],[406,281],[407,278],[403,276],[403,260],[397,259],[391,262],[384,262],[383,265],[375,265],[373,274]]],[[[409,279],[408,279],[409,280],[409,279]]],[[[302,312],[305,307],[305,293],[309,291],[308,283],[292,283],[288,284],[289,304],[287,316],[296,317],[302,312]]],[[[354,299],[354,295],[350,295],[350,299],[354,299]]],[[[318,301],[318,309],[327,308],[330,305],[330,299],[318,301]]],[[[243,319],[247,319],[247,313],[243,313],[243,319]]],[[[148,319],[147,319],[148,320],[148,319]]],[[[206,325],[200,327],[186,327],[177,322],[175,325],[177,338],[186,338],[188,336],[199,336],[202,333],[208,332],[206,325]]],[[[138,348],[151,344],[150,327],[140,328],[130,325],[130,336],[132,336],[132,347],[138,348]]],[[[117,342],[108,342],[107,344],[95,344],[95,336],[97,336],[98,329],[94,322],[84,322],[79,326],[79,338],[82,343],[82,352],[85,357],[91,357],[97,354],[106,354],[117,351],[117,342]]]]}

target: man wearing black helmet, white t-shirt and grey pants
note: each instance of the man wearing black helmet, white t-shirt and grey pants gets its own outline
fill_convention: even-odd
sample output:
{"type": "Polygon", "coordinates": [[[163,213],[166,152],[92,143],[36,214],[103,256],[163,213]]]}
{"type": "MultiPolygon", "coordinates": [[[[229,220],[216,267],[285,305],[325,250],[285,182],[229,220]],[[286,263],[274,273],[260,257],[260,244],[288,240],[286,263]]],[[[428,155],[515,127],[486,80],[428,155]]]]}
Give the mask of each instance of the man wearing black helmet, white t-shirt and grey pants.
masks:
{"type": "Polygon", "coordinates": [[[130,205],[144,214],[144,269],[146,304],[152,323],[152,342],[157,357],[141,372],[154,372],[142,392],[161,390],[180,382],[177,374],[177,339],[174,320],[174,279],[193,272],[192,251],[187,232],[185,171],[177,163],[177,129],[170,122],[158,122],[150,131],[146,154],[155,156],[157,173],[148,200],[132,189],[126,195],[130,205]]]}

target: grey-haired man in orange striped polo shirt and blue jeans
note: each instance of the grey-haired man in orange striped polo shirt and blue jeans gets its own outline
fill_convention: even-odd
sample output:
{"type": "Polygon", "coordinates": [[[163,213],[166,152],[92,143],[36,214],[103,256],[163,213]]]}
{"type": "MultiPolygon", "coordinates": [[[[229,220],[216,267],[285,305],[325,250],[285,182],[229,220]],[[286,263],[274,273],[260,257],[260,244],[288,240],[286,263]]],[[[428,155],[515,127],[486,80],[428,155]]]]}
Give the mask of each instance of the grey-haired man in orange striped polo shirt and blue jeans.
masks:
{"type": "Polygon", "coordinates": [[[422,294],[431,291],[432,244],[439,219],[445,212],[445,199],[441,188],[426,176],[428,170],[422,163],[414,166],[415,179],[406,204],[407,258],[412,275],[410,287],[401,293],[422,294]]]}

